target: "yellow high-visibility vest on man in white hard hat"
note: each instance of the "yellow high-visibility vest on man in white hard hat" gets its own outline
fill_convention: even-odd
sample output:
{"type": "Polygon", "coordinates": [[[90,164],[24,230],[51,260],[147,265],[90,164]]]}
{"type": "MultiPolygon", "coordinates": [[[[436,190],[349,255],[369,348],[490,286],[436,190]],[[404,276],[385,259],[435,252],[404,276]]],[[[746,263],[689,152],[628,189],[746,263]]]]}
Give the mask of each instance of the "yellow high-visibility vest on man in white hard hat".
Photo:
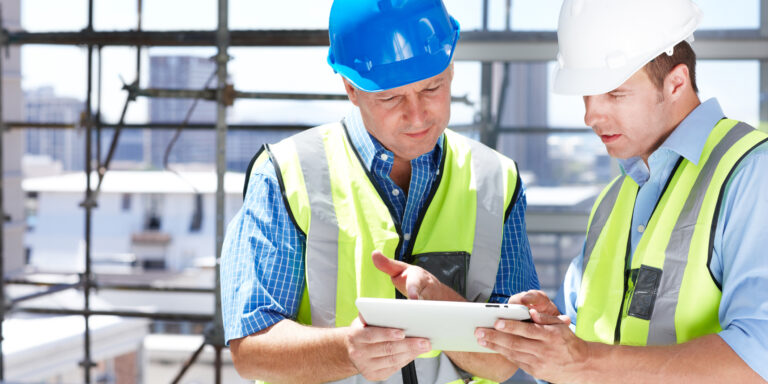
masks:
{"type": "Polygon", "coordinates": [[[712,276],[714,231],[730,175],[768,135],[723,119],[698,164],[681,158],[637,244],[629,236],[639,187],[619,176],[589,219],[576,335],[624,345],[670,345],[721,330],[721,286],[712,276]]]}

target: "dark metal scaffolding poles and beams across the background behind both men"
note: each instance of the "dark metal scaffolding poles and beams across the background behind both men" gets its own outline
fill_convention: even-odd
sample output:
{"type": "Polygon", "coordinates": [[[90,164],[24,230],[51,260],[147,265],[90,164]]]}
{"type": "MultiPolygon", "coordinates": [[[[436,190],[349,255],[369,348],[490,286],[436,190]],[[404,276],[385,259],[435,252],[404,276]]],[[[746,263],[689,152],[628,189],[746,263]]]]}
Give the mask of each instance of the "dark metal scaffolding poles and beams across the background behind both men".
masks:
{"type": "MultiPolygon", "coordinates": [[[[7,49],[11,45],[25,44],[53,44],[53,45],[77,45],[87,48],[87,95],[85,102],[85,113],[81,125],[85,130],[85,172],[86,186],[84,199],[81,207],[85,216],[85,271],[79,275],[75,283],[59,284],[40,281],[29,281],[24,279],[5,279],[4,256],[0,254],[0,276],[3,281],[0,283],[0,297],[5,298],[6,284],[13,285],[35,285],[43,287],[45,290],[39,293],[18,297],[10,302],[5,302],[0,306],[0,335],[2,335],[3,322],[6,313],[9,311],[19,311],[34,314],[64,314],[81,315],[85,321],[85,331],[83,333],[84,357],[80,363],[83,369],[84,382],[91,383],[91,368],[94,366],[91,356],[91,340],[89,318],[96,315],[116,315],[122,317],[139,317],[155,320],[187,321],[195,323],[209,324],[206,328],[205,339],[202,345],[195,350],[189,359],[183,364],[173,383],[179,382],[184,373],[195,362],[203,348],[206,345],[213,346],[215,350],[215,382],[221,382],[221,353],[224,349],[224,336],[221,326],[220,310],[220,281],[219,266],[216,263],[216,281],[214,289],[201,289],[191,287],[154,287],[150,285],[121,285],[110,284],[97,281],[91,270],[91,233],[92,233],[92,215],[97,207],[100,194],[101,181],[105,173],[109,170],[110,162],[113,158],[120,132],[123,129],[168,129],[178,128],[178,124],[127,124],[125,114],[130,102],[137,97],[178,97],[193,98],[216,101],[217,120],[215,126],[210,124],[184,124],[186,130],[215,129],[216,131],[216,235],[215,251],[218,257],[221,254],[221,248],[224,238],[224,173],[226,170],[226,134],[228,130],[256,130],[256,129],[284,129],[298,130],[308,128],[302,125],[228,125],[226,121],[226,108],[231,106],[233,101],[238,98],[254,99],[290,99],[290,100],[346,100],[345,95],[308,95],[296,93],[264,93],[264,92],[243,92],[235,90],[234,87],[227,84],[227,63],[229,61],[228,49],[238,46],[280,46],[280,47],[312,47],[327,46],[328,34],[325,30],[237,30],[230,31],[228,26],[228,0],[217,0],[218,2],[218,27],[214,31],[144,31],[141,25],[142,0],[137,0],[137,29],[134,31],[101,32],[93,29],[93,0],[88,0],[88,23],[87,27],[79,32],[50,32],[50,33],[30,33],[30,32],[9,32],[0,25],[0,49],[7,49]],[[104,46],[131,46],[137,48],[136,59],[136,79],[131,84],[125,85],[124,89],[128,92],[120,121],[117,124],[109,124],[101,121],[100,108],[101,97],[97,92],[97,111],[93,113],[93,72],[94,72],[94,51],[99,58],[101,57],[101,48],[104,46]],[[171,90],[171,89],[141,89],[139,87],[139,76],[141,67],[141,49],[144,47],[159,46],[215,46],[217,54],[216,63],[216,87],[205,88],[202,90],[171,90]],[[100,141],[96,145],[94,154],[94,145],[92,143],[94,134],[100,137],[102,129],[113,129],[114,136],[106,158],[102,161],[100,141]],[[94,164],[95,163],[95,164],[94,164]],[[95,171],[98,177],[96,188],[92,188],[91,177],[95,171]],[[55,309],[43,307],[18,307],[17,305],[35,299],[44,295],[62,292],[70,289],[79,289],[83,292],[84,306],[80,310],[55,309]],[[205,293],[214,294],[216,297],[215,308],[212,315],[192,315],[184,313],[163,313],[163,312],[142,312],[142,311],[102,311],[94,310],[90,305],[90,296],[95,289],[115,289],[115,290],[133,290],[133,291],[152,291],[152,292],[174,292],[174,293],[205,293]]],[[[501,106],[503,103],[493,103],[494,95],[492,93],[493,62],[509,61],[549,61],[555,57],[556,35],[552,32],[512,32],[509,21],[511,13],[511,0],[506,0],[507,24],[506,31],[488,32],[489,7],[488,0],[483,0],[483,31],[462,33],[462,44],[456,53],[457,60],[477,60],[482,63],[481,70],[481,100],[479,105],[480,118],[475,124],[459,129],[475,130],[480,132],[480,137],[486,144],[495,147],[495,143],[500,133],[528,133],[528,134],[551,134],[551,133],[574,133],[579,132],[571,128],[552,128],[552,127],[502,127],[494,122],[494,104],[501,106]]],[[[757,31],[716,31],[697,33],[699,43],[697,52],[700,58],[705,59],[755,59],[761,63],[761,84],[760,90],[763,98],[760,102],[760,119],[768,121],[768,0],[760,0],[761,7],[761,26],[757,31]]],[[[0,21],[1,22],[1,21],[0,21]]],[[[99,90],[101,89],[101,60],[97,68],[99,79],[99,90]]],[[[504,71],[507,76],[508,71],[504,71]]],[[[0,60],[0,73],[2,73],[2,60],[0,60]]],[[[1,84],[1,83],[0,83],[1,84]]],[[[505,88],[505,87],[503,87],[505,88]]],[[[7,122],[3,118],[2,103],[2,85],[0,85],[0,170],[3,169],[3,133],[8,129],[24,129],[31,127],[46,127],[51,129],[73,129],[75,124],[58,123],[24,123],[7,122]]],[[[501,98],[504,95],[500,95],[501,98]]],[[[466,96],[454,97],[453,102],[472,104],[466,96]]],[[[496,113],[498,116],[498,113],[496,113]]],[[[590,131],[582,129],[581,132],[590,131]]],[[[0,177],[1,178],[1,177],[0,177]]],[[[0,180],[1,181],[1,180],[0,180]]],[[[3,187],[0,183],[0,213],[3,213],[3,187]]],[[[578,220],[574,221],[578,222],[578,220]]],[[[549,222],[548,222],[549,223],[549,222]]],[[[536,226],[529,225],[529,230],[536,231],[536,226]]],[[[542,233],[551,233],[551,223],[542,225],[542,233]]],[[[563,229],[568,232],[568,229],[563,229]]],[[[0,225],[0,253],[3,250],[4,239],[3,226],[0,225]]],[[[0,337],[0,382],[4,381],[4,360],[2,354],[2,338],[0,337]]]]}

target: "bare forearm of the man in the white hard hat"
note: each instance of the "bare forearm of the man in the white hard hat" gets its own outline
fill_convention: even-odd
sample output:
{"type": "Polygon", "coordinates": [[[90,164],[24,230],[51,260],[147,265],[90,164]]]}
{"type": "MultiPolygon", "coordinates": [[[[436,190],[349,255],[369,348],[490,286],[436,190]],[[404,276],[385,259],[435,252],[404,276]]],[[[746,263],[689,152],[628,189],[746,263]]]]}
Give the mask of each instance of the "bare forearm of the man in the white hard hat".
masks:
{"type": "Polygon", "coordinates": [[[718,335],[673,346],[590,343],[578,383],[764,383],[718,335]]]}

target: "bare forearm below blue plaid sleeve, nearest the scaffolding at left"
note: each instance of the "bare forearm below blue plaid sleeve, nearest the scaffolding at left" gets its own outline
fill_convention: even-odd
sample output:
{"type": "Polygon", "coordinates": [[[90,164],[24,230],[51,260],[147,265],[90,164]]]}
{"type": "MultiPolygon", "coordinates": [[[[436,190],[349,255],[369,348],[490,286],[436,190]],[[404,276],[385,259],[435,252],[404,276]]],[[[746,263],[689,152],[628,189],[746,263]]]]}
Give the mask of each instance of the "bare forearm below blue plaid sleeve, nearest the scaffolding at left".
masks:
{"type": "Polygon", "coordinates": [[[357,374],[344,338],[347,328],[315,328],[283,320],[257,334],[232,340],[240,376],[271,383],[319,383],[357,374]]]}

